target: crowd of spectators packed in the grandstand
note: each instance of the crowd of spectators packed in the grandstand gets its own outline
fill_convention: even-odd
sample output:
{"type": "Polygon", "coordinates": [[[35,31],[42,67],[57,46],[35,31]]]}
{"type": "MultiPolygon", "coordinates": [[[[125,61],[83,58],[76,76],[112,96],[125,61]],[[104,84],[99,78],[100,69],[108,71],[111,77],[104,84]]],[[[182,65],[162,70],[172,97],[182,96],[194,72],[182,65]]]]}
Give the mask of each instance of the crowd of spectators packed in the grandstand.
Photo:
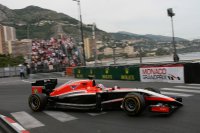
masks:
{"type": "Polygon", "coordinates": [[[32,41],[31,68],[52,70],[55,67],[74,67],[81,65],[80,52],[73,38],[51,38],[32,41]]]}

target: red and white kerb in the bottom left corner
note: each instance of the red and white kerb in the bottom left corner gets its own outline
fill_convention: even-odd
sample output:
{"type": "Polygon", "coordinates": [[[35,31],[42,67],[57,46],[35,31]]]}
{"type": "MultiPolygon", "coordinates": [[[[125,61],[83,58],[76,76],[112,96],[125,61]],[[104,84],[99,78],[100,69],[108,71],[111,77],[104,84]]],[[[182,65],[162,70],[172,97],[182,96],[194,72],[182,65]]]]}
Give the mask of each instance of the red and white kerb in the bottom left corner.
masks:
{"type": "Polygon", "coordinates": [[[11,128],[13,128],[17,133],[30,133],[29,131],[24,129],[20,124],[15,122],[13,119],[11,119],[7,116],[4,116],[4,115],[0,115],[0,118],[4,122],[6,122],[11,128]]]}

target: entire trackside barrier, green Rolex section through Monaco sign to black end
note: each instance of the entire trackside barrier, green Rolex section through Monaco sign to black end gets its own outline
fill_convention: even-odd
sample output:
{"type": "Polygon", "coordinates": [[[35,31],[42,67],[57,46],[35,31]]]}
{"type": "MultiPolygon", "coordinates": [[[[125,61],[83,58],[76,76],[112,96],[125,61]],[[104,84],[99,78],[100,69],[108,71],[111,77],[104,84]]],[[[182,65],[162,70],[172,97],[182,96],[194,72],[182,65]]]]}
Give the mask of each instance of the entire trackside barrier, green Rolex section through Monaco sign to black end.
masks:
{"type": "Polygon", "coordinates": [[[131,80],[142,82],[200,83],[200,63],[143,64],[76,67],[75,78],[131,80]],[[161,72],[163,70],[163,73],[161,72]]]}

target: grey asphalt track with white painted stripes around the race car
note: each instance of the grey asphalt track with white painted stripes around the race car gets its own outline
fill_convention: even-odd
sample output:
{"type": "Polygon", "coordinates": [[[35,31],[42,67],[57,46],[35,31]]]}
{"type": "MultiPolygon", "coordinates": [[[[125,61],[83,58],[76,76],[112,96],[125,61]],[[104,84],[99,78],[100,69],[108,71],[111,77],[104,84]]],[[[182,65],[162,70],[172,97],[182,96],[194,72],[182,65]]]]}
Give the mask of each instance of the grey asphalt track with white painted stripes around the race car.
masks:
{"type": "MultiPolygon", "coordinates": [[[[68,80],[63,77],[58,81],[62,84],[68,80]]],[[[144,112],[140,116],[129,117],[121,110],[101,113],[74,110],[32,112],[28,107],[31,94],[29,81],[0,79],[0,114],[21,123],[31,133],[200,133],[200,85],[98,80],[108,87],[151,86],[162,89],[166,94],[183,96],[184,106],[172,115],[144,112]]]]}

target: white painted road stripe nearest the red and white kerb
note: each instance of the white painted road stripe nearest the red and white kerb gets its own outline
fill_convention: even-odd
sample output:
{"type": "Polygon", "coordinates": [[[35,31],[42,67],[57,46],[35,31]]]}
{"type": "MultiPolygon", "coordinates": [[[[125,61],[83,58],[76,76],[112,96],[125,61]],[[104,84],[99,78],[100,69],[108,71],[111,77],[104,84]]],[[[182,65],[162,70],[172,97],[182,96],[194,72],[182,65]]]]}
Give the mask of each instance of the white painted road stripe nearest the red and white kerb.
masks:
{"type": "Polygon", "coordinates": [[[11,113],[11,115],[27,129],[44,126],[43,123],[24,111],[11,113]]]}

